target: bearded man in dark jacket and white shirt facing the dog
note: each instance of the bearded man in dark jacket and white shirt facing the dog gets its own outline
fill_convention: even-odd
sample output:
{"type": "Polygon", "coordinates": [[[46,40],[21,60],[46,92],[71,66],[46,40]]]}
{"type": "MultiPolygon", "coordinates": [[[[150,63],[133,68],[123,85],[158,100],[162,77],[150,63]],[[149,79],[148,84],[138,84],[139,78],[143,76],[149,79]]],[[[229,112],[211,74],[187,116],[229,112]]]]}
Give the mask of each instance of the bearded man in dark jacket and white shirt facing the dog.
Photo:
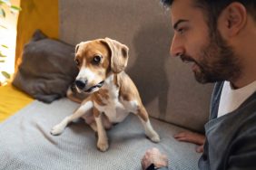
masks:
{"type": "MultiPolygon", "coordinates": [[[[192,62],[199,82],[217,82],[199,168],[256,169],[256,1],[162,2],[171,7],[172,56],[192,62]]],[[[195,134],[176,138],[204,141],[195,134]]],[[[153,148],[143,156],[142,165],[143,169],[167,169],[167,162],[153,148]]]]}

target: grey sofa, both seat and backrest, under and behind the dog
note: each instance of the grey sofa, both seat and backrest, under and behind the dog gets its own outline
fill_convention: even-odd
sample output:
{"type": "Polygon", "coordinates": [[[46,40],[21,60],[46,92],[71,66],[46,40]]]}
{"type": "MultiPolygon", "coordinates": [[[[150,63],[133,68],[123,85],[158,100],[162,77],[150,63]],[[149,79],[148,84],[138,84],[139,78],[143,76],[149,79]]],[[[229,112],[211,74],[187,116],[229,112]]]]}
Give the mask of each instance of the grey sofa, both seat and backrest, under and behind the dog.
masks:
{"type": "Polygon", "coordinates": [[[172,169],[197,169],[195,145],[172,136],[184,130],[203,133],[209,117],[212,85],[194,80],[188,65],[170,57],[170,10],[159,0],[59,0],[60,39],[76,44],[110,37],[130,48],[126,72],[140,91],[161,142],[152,143],[131,115],[108,131],[110,147],[96,149],[93,130],[78,121],[61,136],[50,129],[78,104],[58,99],[34,101],[0,124],[0,169],[141,169],[144,152],[158,147],[172,169]],[[11,134],[11,135],[10,135],[11,134]]]}

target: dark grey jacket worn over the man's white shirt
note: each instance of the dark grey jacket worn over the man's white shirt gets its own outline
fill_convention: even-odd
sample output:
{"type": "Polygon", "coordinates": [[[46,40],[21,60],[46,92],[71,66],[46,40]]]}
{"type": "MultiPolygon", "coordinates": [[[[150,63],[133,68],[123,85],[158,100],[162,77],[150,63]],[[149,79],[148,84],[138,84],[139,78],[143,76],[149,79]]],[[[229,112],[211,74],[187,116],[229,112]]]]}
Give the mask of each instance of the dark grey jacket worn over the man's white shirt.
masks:
{"type": "Polygon", "coordinates": [[[220,118],[223,82],[212,93],[211,115],[205,124],[206,141],[199,160],[202,170],[256,169],[256,92],[238,109],[220,118]]]}

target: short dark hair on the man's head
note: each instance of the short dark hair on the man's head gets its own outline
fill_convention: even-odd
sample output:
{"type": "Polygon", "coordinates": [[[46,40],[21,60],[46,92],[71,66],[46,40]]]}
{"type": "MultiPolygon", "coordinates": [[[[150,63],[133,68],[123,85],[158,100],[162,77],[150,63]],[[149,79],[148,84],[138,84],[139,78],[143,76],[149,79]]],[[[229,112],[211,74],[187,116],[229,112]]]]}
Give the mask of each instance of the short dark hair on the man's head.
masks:
{"type": "MultiPolygon", "coordinates": [[[[165,6],[172,6],[174,0],[161,0],[165,6]]],[[[251,14],[256,21],[256,0],[194,0],[194,6],[202,9],[206,14],[205,19],[211,31],[217,27],[217,21],[222,10],[233,2],[241,3],[245,6],[248,14],[251,14]]]]}

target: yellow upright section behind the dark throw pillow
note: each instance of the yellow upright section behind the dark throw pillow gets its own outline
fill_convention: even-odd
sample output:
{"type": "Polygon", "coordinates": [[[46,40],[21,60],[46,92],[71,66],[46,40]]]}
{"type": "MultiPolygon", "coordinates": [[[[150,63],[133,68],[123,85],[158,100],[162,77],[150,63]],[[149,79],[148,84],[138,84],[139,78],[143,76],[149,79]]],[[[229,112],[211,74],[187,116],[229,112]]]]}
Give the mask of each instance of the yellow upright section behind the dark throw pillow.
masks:
{"type": "Polygon", "coordinates": [[[24,45],[29,42],[36,29],[50,38],[59,37],[58,0],[21,0],[20,6],[22,11],[17,23],[15,71],[21,61],[24,45]]]}

